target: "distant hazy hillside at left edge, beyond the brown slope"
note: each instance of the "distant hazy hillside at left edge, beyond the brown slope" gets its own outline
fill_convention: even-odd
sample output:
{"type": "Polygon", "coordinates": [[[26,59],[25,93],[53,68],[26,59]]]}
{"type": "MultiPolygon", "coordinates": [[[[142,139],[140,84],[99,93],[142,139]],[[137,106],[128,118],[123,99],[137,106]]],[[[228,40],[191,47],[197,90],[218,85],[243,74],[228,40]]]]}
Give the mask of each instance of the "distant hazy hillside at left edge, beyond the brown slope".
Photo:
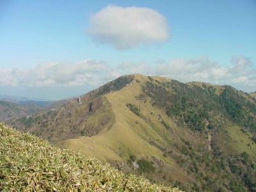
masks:
{"type": "Polygon", "coordinates": [[[42,106],[34,103],[16,104],[0,100],[0,121],[8,121],[11,118],[21,118],[41,111],[42,106]]]}

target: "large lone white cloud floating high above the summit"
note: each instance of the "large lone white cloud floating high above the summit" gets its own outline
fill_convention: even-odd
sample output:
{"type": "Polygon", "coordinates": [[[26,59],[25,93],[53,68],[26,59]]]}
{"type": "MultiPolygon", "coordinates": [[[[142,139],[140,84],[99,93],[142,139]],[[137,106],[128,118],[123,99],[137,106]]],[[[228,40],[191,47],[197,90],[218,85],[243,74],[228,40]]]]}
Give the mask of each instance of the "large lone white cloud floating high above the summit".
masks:
{"type": "Polygon", "coordinates": [[[140,44],[164,42],[168,27],[163,15],[150,8],[109,5],[90,18],[90,35],[97,42],[127,49],[140,44]]]}

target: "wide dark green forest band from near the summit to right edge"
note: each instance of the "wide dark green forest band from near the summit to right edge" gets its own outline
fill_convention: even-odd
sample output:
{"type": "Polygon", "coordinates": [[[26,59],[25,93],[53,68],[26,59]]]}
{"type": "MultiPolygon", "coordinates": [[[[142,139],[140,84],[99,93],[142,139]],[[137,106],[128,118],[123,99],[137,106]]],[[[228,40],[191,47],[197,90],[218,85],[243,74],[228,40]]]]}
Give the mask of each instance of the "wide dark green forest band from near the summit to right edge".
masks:
{"type": "Polygon", "coordinates": [[[256,132],[255,102],[230,86],[223,86],[223,91],[217,95],[211,85],[191,86],[173,80],[159,84],[151,80],[145,83],[143,92],[153,99],[153,105],[165,108],[168,116],[177,118],[180,125],[185,123],[192,130],[203,131],[205,120],[209,128],[220,127],[221,116],[227,116],[246,131],[256,132]]]}

